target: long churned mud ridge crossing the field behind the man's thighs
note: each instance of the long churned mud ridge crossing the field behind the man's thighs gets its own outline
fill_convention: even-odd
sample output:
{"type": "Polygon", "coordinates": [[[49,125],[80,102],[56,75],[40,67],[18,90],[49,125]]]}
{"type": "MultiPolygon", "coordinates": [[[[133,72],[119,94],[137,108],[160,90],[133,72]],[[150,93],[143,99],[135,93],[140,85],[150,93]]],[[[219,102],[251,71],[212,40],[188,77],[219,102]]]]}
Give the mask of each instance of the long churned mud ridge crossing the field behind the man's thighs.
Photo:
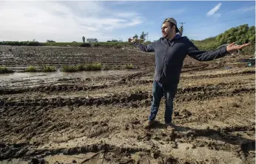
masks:
{"type": "MultiPolygon", "coordinates": [[[[194,101],[212,99],[218,96],[234,96],[241,93],[255,93],[254,86],[244,88],[237,85],[212,85],[193,88],[179,88],[175,101],[194,101]]],[[[104,96],[99,98],[93,97],[75,97],[75,98],[41,98],[41,99],[23,99],[18,98],[3,98],[0,100],[0,107],[18,107],[18,106],[33,106],[33,107],[64,107],[64,106],[92,106],[92,105],[107,105],[121,104],[132,107],[140,105],[150,105],[152,95],[147,91],[138,91],[135,93],[115,94],[112,96],[104,96]],[[132,102],[136,102],[135,104],[132,102]],[[132,104],[131,104],[132,103],[132,104]]]]}

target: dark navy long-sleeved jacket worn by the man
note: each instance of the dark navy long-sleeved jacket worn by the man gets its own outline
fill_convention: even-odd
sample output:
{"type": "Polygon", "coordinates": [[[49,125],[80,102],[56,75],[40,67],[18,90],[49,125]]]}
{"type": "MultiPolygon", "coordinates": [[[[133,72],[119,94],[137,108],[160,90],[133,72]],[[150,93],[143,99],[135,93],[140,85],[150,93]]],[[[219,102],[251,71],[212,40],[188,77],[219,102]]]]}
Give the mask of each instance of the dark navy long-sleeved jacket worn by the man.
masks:
{"type": "Polygon", "coordinates": [[[172,40],[160,38],[148,45],[138,42],[133,44],[141,51],[155,51],[154,80],[163,85],[178,84],[186,55],[198,61],[215,60],[226,55],[226,47],[213,51],[200,51],[192,41],[180,35],[176,35],[172,40]]]}

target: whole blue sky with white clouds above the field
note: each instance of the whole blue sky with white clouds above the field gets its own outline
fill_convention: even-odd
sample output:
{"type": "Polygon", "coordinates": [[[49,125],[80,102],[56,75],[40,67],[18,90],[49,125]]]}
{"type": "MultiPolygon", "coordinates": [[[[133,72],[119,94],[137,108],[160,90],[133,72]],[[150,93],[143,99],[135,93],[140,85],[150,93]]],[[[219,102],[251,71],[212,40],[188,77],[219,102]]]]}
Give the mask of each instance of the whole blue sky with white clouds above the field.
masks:
{"type": "Polygon", "coordinates": [[[255,25],[255,1],[0,1],[0,40],[127,41],[142,31],[157,40],[167,17],[201,40],[255,25]]]}

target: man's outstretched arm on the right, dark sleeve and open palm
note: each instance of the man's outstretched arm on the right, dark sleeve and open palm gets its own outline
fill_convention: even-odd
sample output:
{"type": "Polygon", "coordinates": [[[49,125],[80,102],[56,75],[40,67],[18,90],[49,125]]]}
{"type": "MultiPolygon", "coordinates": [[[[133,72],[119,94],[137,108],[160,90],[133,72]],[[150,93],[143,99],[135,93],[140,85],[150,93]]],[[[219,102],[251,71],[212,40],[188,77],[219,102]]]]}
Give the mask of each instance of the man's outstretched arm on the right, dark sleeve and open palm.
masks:
{"type": "Polygon", "coordinates": [[[250,43],[246,43],[243,45],[235,45],[235,43],[229,44],[229,46],[221,47],[220,49],[215,49],[212,51],[200,51],[192,41],[189,40],[189,51],[188,55],[193,57],[195,60],[198,61],[210,61],[215,60],[220,57],[225,57],[227,53],[230,51],[243,49],[244,47],[248,46],[250,43]]]}

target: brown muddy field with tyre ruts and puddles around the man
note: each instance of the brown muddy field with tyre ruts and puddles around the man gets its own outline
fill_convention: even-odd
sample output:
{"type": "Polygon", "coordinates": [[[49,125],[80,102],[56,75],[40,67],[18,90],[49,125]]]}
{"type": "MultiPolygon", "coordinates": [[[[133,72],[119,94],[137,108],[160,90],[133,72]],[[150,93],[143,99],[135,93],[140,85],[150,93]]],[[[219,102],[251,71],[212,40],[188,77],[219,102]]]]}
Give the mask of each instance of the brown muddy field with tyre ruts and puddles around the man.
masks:
{"type": "Polygon", "coordinates": [[[255,68],[249,56],[186,58],[175,132],[164,102],[144,129],[154,55],[135,49],[0,46],[0,65],[132,63],[134,70],[0,75],[0,163],[255,163],[255,68]]]}

